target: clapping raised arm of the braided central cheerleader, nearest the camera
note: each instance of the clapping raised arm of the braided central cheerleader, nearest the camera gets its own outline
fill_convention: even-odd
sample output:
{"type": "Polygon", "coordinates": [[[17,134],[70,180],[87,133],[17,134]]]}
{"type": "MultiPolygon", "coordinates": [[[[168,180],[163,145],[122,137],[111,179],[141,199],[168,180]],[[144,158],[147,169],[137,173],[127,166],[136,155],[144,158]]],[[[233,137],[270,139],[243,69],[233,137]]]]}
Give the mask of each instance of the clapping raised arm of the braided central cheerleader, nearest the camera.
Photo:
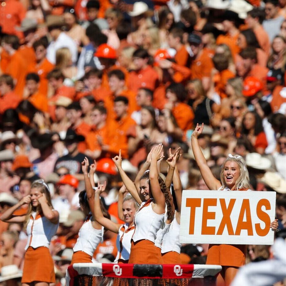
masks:
{"type": "Polygon", "coordinates": [[[163,150],[163,145],[161,143],[154,148],[151,154],[151,164],[149,172],[149,182],[151,186],[152,196],[154,198],[154,203],[157,206],[156,211],[159,214],[165,212],[165,205],[166,205],[165,196],[161,191],[160,183],[158,180],[159,174],[157,168],[157,161],[161,157],[162,150],[163,150]]]}

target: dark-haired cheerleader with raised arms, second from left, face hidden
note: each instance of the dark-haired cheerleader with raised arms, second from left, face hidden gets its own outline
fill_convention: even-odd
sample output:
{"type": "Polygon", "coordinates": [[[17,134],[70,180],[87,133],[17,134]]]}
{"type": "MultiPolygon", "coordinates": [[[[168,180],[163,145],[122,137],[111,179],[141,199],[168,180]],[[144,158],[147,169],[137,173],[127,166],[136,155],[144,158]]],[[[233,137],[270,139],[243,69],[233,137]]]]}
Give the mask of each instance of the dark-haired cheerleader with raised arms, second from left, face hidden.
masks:
{"type": "MultiPolygon", "coordinates": [[[[79,193],[79,203],[86,219],[78,233],[77,242],[73,247],[73,257],[70,264],[91,263],[96,247],[99,243],[103,242],[103,226],[94,219],[94,190],[90,182],[90,179],[93,180],[93,177],[90,179],[88,177],[88,165],[88,159],[85,157],[81,163],[85,179],[85,190],[79,193]]],[[[91,164],[90,169],[93,174],[96,170],[96,162],[91,164]]],[[[99,185],[99,187],[103,188],[104,186],[99,185]]],[[[110,218],[102,202],[100,202],[100,208],[104,216],[110,218]]]]}

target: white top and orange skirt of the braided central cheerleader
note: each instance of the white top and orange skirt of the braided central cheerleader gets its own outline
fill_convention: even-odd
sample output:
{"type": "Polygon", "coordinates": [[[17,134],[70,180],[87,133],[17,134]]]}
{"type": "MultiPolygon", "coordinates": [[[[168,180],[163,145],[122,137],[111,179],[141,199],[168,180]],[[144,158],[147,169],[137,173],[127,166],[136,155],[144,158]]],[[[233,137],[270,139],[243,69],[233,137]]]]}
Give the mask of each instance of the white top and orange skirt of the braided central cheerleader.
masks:
{"type": "Polygon", "coordinates": [[[135,214],[135,231],[131,240],[129,263],[161,264],[162,257],[155,246],[157,232],[164,225],[164,213],[152,209],[152,200],[142,202],[135,214]]]}

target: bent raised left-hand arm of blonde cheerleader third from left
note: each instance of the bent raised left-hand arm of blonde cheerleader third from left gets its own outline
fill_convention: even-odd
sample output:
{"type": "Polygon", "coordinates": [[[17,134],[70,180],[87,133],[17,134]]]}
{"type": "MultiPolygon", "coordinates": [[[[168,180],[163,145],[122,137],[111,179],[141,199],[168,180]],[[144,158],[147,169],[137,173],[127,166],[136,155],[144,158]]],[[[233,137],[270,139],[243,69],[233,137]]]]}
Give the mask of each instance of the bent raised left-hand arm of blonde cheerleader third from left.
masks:
{"type": "Polygon", "coordinates": [[[97,221],[97,223],[101,224],[106,229],[118,233],[120,224],[116,224],[108,218],[104,217],[101,211],[100,194],[102,193],[102,191],[102,185],[98,185],[94,196],[94,219],[97,221]]]}

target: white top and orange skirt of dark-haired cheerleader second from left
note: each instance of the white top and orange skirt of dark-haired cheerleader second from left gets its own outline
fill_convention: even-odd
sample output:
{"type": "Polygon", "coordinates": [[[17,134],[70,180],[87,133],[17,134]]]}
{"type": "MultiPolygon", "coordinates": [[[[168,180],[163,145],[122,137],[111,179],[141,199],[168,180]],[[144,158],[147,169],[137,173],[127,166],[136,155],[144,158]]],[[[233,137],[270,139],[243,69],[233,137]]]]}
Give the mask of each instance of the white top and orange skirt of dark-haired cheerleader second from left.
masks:
{"type": "Polygon", "coordinates": [[[78,232],[77,243],[73,247],[73,263],[91,263],[92,255],[99,243],[103,242],[103,227],[95,229],[92,226],[92,215],[89,214],[78,232]]]}

